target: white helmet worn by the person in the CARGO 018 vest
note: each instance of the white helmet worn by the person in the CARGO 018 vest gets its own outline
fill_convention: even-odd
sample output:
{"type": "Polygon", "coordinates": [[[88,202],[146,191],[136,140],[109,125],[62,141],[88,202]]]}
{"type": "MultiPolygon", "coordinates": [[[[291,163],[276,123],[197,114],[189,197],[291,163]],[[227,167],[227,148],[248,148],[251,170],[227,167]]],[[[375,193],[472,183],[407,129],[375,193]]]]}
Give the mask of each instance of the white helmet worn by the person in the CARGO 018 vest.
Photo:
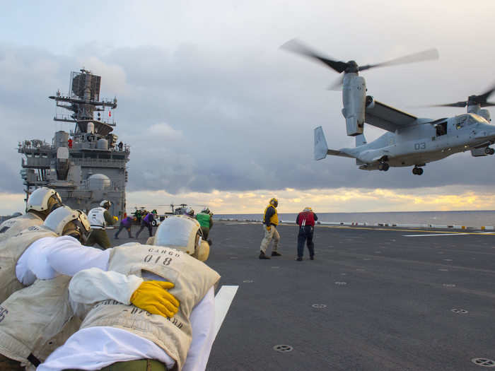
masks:
{"type": "Polygon", "coordinates": [[[154,245],[173,247],[200,261],[209,256],[209,243],[203,240],[199,222],[184,215],[165,218],[158,226],[154,240],[154,245]]]}

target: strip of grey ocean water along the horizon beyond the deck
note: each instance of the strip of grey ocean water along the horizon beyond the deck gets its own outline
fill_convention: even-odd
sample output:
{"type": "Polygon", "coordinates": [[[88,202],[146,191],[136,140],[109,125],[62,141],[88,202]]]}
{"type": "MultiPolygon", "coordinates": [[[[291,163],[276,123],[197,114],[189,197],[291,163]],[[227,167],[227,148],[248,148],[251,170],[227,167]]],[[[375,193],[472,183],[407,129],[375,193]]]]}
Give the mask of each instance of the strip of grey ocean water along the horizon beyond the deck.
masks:
{"type": "MultiPolygon", "coordinates": [[[[387,223],[412,225],[495,226],[495,211],[407,211],[390,213],[317,213],[318,221],[332,223],[387,223]]],[[[279,219],[295,221],[297,213],[279,213],[279,219]]],[[[215,214],[214,219],[262,220],[260,214],[215,214]]]]}

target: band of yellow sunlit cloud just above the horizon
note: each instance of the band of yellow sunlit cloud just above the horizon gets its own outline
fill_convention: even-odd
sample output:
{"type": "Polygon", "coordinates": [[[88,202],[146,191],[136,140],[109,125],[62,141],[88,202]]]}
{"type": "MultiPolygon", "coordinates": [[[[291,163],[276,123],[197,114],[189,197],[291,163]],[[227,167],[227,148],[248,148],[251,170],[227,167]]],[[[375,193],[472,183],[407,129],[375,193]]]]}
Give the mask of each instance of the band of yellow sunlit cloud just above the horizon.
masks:
{"type": "Polygon", "coordinates": [[[164,191],[129,192],[127,211],[134,210],[134,206],[168,211],[170,203],[175,205],[184,203],[195,209],[208,205],[214,213],[220,214],[261,213],[272,197],[279,199],[279,213],[296,213],[306,206],[311,206],[320,213],[495,209],[495,194],[491,194],[489,189],[450,186],[418,190],[338,188],[180,194],[169,194],[164,191]]]}

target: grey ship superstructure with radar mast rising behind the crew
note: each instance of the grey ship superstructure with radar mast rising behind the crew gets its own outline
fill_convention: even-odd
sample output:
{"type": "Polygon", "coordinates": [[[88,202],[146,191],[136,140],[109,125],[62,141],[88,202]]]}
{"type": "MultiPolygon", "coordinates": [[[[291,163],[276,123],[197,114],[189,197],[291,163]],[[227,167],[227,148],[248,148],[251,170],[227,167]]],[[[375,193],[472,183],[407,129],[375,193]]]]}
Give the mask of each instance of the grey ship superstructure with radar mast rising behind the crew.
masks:
{"type": "Polygon", "coordinates": [[[107,199],[112,202],[110,213],[120,219],[126,206],[130,147],[112,134],[117,98],[100,100],[100,82],[100,76],[81,69],[71,73],[69,94],[59,90],[49,97],[62,110],[54,121],[74,123],[74,130],[57,131],[52,143],[39,139],[19,143],[21,177],[26,199],[37,187],[50,187],[64,204],[86,213],[107,199]]]}

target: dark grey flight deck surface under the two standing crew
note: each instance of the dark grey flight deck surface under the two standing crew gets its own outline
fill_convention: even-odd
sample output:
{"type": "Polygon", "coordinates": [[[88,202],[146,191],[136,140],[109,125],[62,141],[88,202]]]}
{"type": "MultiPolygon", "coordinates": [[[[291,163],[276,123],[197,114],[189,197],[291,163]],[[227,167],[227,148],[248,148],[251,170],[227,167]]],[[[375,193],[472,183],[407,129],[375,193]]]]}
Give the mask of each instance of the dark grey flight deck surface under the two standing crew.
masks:
{"type": "Polygon", "coordinates": [[[491,369],[472,358],[495,360],[495,235],[317,226],[295,261],[298,227],[278,230],[283,256],[260,260],[260,223],[211,229],[207,263],[239,289],[207,370],[491,369]]]}

